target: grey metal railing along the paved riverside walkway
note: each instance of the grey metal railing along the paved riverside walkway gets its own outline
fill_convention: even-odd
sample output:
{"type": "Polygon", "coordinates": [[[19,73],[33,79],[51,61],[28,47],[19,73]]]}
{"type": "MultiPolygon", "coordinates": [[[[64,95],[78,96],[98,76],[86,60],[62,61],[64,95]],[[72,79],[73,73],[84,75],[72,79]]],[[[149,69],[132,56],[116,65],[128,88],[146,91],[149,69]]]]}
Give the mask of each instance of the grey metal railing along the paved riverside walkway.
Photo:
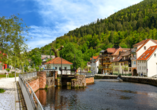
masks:
{"type": "Polygon", "coordinates": [[[24,100],[28,110],[44,110],[40,101],[38,100],[36,94],[30,87],[30,85],[25,81],[26,78],[31,78],[37,76],[37,73],[28,73],[19,75],[19,84],[21,91],[24,96],[24,100]]]}

